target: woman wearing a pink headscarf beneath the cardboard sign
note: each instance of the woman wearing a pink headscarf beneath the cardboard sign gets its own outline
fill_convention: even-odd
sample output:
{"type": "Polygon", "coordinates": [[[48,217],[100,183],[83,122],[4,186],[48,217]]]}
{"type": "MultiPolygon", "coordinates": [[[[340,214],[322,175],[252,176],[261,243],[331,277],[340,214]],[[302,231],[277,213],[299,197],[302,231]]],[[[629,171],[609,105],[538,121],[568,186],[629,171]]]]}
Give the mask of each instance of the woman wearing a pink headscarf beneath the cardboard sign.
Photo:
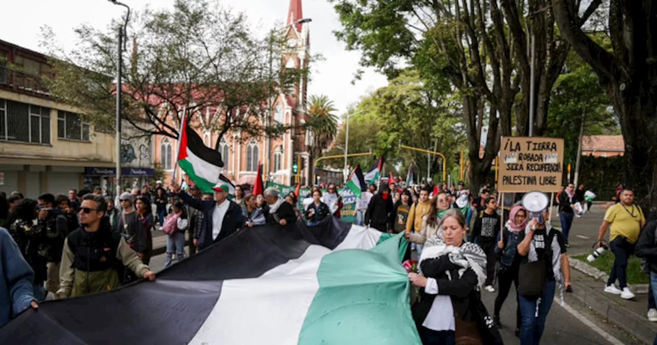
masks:
{"type": "MultiPolygon", "coordinates": [[[[516,288],[516,301],[518,300],[518,267],[520,267],[521,256],[518,254],[518,244],[524,238],[525,225],[527,225],[527,212],[522,206],[514,206],[509,212],[509,220],[505,225],[499,241],[497,242],[497,256],[500,268],[497,273],[497,297],[495,298],[495,309],[493,321],[497,328],[502,327],[499,312],[502,304],[509,296],[511,283],[516,288]]],[[[520,334],[520,304],[516,306],[516,336],[520,334]]]]}

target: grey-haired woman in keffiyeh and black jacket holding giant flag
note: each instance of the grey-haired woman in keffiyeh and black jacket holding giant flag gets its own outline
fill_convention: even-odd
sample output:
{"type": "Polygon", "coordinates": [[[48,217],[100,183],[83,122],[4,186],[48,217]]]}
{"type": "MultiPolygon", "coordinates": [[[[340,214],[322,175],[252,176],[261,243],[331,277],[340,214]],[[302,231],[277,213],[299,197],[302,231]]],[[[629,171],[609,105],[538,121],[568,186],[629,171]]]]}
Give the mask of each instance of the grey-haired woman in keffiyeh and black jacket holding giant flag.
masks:
{"type": "Polygon", "coordinates": [[[413,318],[422,344],[501,344],[493,320],[479,298],[486,281],[486,255],[480,246],[464,242],[465,217],[447,210],[440,221],[442,239],[427,239],[420,274],[409,273],[420,289],[413,318]]]}

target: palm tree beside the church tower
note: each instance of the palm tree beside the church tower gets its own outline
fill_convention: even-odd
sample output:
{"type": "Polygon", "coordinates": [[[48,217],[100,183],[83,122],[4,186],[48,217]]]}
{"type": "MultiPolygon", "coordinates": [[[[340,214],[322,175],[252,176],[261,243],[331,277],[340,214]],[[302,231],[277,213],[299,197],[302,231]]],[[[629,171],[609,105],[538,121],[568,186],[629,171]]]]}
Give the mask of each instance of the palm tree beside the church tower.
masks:
{"type": "Polygon", "coordinates": [[[337,109],[325,95],[312,95],[308,107],[308,126],[313,133],[311,154],[318,157],[322,150],[327,149],[338,133],[338,116],[332,114],[337,109]]]}

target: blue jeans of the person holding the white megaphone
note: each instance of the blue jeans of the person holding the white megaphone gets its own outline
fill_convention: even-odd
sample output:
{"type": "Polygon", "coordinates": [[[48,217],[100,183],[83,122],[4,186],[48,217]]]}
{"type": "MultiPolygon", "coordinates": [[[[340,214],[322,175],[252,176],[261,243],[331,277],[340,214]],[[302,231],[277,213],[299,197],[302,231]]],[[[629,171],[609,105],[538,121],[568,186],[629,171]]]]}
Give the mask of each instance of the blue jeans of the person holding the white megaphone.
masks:
{"type": "Polygon", "coordinates": [[[538,345],[545,331],[545,319],[550,312],[552,302],[555,298],[555,281],[548,281],[543,288],[540,304],[539,299],[530,299],[520,296],[520,313],[522,323],[520,324],[520,345],[538,345]],[[536,306],[538,304],[538,313],[536,306]]]}

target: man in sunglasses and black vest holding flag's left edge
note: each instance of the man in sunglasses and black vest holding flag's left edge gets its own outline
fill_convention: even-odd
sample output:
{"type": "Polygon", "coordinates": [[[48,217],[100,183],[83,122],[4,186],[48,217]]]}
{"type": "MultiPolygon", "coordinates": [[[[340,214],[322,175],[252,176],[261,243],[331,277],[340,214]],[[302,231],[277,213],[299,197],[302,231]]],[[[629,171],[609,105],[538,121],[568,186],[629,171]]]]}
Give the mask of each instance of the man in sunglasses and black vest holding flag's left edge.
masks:
{"type": "Polygon", "coordinates": [[[64,241],[60,265],[60,288],[55,298],[82,296],[111,290],[120,285],[118,267],[124,265],[137,276],[150,281],[155,273],[141,262],[125,238],[112,231],[105,212],[107,203],[100,195],[85,195],[80,204],[78,229],[64,241]]]}

